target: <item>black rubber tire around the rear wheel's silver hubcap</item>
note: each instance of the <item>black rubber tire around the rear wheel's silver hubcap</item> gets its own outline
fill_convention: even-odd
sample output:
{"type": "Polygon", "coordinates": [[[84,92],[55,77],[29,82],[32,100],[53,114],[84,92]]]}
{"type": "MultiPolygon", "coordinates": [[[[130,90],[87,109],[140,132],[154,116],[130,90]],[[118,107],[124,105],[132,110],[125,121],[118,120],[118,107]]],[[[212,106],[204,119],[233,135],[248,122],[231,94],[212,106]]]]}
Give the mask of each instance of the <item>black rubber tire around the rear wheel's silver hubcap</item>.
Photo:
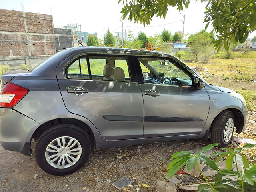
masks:
{"type": "Polygon", "coordinates": [[[40,136],[36,144],[35,155],[38,166],[45,172],[52,175],[67,175],[80,169],[88,160],[90,155],[90,140],[86,135],[86,132],[84,132],[77,126],[71,124],[56,125],[46,130],[40,136]],[[51,166],[47,162],[45,153],[48,144],[50,144],[50,142],[52,142],[54,139],[61,136],[68,136],[78,140],[82,147],[82,154],[74,165],[68,168],[59,169],[51,166]]]}

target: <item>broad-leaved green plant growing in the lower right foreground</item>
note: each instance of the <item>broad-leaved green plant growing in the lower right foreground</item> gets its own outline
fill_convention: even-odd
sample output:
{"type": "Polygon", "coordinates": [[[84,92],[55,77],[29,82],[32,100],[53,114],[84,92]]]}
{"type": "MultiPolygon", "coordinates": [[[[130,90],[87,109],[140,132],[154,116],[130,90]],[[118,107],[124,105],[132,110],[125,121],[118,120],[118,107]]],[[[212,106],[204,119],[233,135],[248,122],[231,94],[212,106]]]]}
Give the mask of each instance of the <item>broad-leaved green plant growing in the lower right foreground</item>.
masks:
{"type": "Polygon", "coordinates": [[[192,170],[194,166],[199,170],[200,174],[204,178],[207,184],[200,184],[198,186],[199,192],[226,192],[226,190],[230,190],[231,192],[252,192],[253,188],[255,190],[256,187],[256,164],[250,165],[249,161],[247,160],[246,156],[242,154],[242,149],[244,148],[251,148],[254,144],[246,144],[242,148],[237,148],[236,150],[230,148],[224,148],[224,152],[217,152],[214,153],[212,156],[218,156],[218,158],[213,161],[209,157],[205,156],[203,153],[211,150],[215,146],[218,146],[218,143],[210,144],[203,147],[197,154],[192,154],[188,151],[180,151],[176,152],[172,155],[168,171],[166,174],[169,175],[171,178],[180,168],[184,165],[187,165],[188,171],[192,170]],[[243,164],[244,164],[244,172],[242,170],[238,170],[237,164],[237,155],[241,156],[243,164]],[[226,167],[227,169],[218,170],[218,166],[216,162],[220,159],[228,156],[226,160],[226,167]],[[209,180],[204,176],[201,169],[198,165],[198,159],[202,160],[206,165],[210,168],[217,170],[218,174],[215,178],[214,183],[210,183],[209,180]],[[235,160],[236,164],[236,171],[231,171],[233,160],[235,160]],[[237,178],[227,178],[222,179],[224,175],[228,176],[236,176],[237,178]],[[232,185],[230,185],[232,184],[232,185]]]}

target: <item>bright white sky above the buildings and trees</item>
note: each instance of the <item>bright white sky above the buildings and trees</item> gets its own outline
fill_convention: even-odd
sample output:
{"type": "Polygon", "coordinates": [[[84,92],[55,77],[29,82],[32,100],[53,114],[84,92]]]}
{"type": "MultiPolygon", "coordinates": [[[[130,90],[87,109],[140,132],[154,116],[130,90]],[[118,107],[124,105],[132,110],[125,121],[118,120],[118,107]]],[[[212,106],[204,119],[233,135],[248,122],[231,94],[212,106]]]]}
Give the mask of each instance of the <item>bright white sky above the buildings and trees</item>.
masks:
{"type": "MultiPolygon", "coordinates": [[[[21,3],[25,12],[52,14],[54,27],[62,28],[67,24],[81,24],[82,31],[96,32],[99,38],[104,35],[104,26],[105,30],[109,29],[114,35],[116,35],[115,32],[122,32],[120,11],[123,5],[122,2],[118,4],[118,0],[0,0],[0,8],[22,11],[21,3]]],[[[165,19],[154,17],[147,27],[126,19],[123,30],[124,32],[132,30],[134,36],[137,36],[140,31],[146,33],[147,36],[153,36],[160,34],[165,28],[174,34],[176,31],[183,30],[183,16],[181,15],[183,14],[185,15],[184,34],[188,34],[184,37],[186,39],[190,34],[204,28],[205,5],[206,3],[191,1],[188,9],[184,9],[182,12],[169,7],[165,19]]],[[[209,25],[208,31],[211,30],[210,27],[209,25]]],[[[249,34],[248,38],[255,35],[256,31],[249,34]]]]}

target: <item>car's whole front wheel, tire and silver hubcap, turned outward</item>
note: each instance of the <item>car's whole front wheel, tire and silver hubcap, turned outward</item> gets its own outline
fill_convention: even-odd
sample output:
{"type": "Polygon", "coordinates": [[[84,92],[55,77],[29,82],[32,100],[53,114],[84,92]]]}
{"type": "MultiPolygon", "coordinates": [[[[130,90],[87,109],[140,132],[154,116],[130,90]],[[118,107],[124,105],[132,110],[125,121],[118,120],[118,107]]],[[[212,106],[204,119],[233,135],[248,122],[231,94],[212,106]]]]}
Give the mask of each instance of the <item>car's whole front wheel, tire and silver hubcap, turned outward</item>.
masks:
{"type": "Polygon", "coordinates": [[[232,139],[234,132],[234,114],[224,110],[212,123],[212,142],[219,143],[219,147],[226,147],[232,139]]]}

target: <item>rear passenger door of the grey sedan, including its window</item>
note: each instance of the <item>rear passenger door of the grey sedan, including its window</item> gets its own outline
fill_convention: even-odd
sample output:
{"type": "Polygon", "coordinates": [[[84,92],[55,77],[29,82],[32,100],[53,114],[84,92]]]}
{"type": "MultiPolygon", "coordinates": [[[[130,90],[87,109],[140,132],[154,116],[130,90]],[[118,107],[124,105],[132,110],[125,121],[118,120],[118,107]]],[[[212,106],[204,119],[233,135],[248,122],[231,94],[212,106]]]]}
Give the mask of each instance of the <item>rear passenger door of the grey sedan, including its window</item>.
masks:
{"type": "Polygon", "coordinates": [[[131,59],[129,55],[80,54],[56,69],[66,108],[90,120],[106,140],[143,137],[143,98],[131,59]],[[115,68],[119,78],[114,76],[115,68]]]}

